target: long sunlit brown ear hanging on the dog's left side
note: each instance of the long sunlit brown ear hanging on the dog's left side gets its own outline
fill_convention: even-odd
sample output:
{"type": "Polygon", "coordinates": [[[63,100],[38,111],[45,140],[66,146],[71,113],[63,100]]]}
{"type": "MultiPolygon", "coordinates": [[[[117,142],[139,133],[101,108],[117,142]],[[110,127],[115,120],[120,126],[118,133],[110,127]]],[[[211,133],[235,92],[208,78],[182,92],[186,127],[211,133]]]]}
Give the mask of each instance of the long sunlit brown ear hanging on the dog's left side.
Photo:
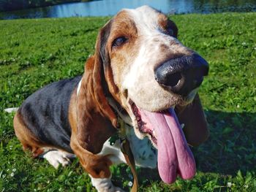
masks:
{"type": "MultiPolygon", "coordinates": [[[[77,139],[91,153],[99,153],[104,142],[115,133],[117,118],[102,88],[105,81],[103,65],[108,55],[102,55],[110,30],[109,23],[97,37],[95,54],[88,59],[77,96],[77,139]]],[[[107,54],[107,53],[106,53],[107,54]]],[[[108,60],[109,61],[109,60],[108,60]]]]}

